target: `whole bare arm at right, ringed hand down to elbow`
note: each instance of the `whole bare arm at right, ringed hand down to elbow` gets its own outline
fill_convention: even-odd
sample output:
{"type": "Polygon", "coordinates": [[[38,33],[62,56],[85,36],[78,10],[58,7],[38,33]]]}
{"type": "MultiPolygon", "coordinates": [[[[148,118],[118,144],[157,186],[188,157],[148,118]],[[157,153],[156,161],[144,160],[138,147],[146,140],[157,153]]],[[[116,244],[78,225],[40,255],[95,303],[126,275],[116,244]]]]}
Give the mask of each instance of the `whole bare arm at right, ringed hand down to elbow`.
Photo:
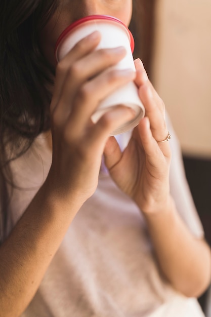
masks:
{"type": "Polygon", "coordinates": [[[135,63],[146,117],[123,152],[114,138],[108,140],[105,163],[117,185],[143,212],[162,273],[178,291],[198,296],[210,282],[210,250],[190,233],[175,207],[170,194],[171,141],[157,142],[167,136],[164,104],[141,61],[135,63]]]}

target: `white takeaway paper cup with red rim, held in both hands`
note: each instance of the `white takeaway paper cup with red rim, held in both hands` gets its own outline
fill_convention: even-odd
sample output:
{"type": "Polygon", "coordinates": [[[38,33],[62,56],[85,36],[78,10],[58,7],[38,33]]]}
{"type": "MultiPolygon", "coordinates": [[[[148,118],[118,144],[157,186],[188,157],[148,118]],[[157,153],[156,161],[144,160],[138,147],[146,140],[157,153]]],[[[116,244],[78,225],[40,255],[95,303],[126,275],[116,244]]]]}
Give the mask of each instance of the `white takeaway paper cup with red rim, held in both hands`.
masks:
{"type": "MultiPolygon", "coordinates": [[[[69,25],[59,36],[55,47],[55,56],[59,62],[83,37],[98,30],[101,33],[101,42],[96,50],[103,48],[115,48],[124,46],[125,57],[112,68],[135,70],[133,50],[134,38],[128,27],[120,20],[104,15],[87,16],[69,25]]],[[[110,135],[126,132],[136,127],[145,114],[144,106],[139,98],[138,89],[134,82],[130,82],[117,89],[107,98],[102,100],[98,109],[93,113],[91,119],[96,123],[99,118],[109,111],[113,106],[124,105],[135,111],[135,117],[129,122],[125,122],[110,135]]]]}

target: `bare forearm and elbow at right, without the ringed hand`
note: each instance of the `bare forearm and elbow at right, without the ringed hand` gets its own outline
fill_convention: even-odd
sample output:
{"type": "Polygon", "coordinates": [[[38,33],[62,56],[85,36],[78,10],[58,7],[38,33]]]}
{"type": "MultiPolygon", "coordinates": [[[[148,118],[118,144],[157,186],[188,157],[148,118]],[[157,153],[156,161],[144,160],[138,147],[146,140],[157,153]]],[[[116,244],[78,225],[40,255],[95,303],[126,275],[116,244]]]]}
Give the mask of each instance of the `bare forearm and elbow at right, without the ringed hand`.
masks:
{"type": "Polygon", "coordinates": [[[159,266],[170,283],[186,296],[198,297],[210,283],[211,253],[180,218],[173,199],[158,214],[145,215],[159,266]]]}

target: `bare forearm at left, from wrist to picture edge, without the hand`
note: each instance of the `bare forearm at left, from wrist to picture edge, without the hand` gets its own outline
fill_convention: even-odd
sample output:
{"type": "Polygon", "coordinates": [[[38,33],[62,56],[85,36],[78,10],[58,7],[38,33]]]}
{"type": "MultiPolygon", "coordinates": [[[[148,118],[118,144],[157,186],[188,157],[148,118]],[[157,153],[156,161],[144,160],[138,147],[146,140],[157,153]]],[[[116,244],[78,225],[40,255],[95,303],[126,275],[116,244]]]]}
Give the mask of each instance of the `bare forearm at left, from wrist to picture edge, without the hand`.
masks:
{"type": "Polygon", "coordinates": [[[25,310],[80,207],[73,194],[66,206],[48,187],[46,182],[0,248],[1,317],[25,310]]]}

